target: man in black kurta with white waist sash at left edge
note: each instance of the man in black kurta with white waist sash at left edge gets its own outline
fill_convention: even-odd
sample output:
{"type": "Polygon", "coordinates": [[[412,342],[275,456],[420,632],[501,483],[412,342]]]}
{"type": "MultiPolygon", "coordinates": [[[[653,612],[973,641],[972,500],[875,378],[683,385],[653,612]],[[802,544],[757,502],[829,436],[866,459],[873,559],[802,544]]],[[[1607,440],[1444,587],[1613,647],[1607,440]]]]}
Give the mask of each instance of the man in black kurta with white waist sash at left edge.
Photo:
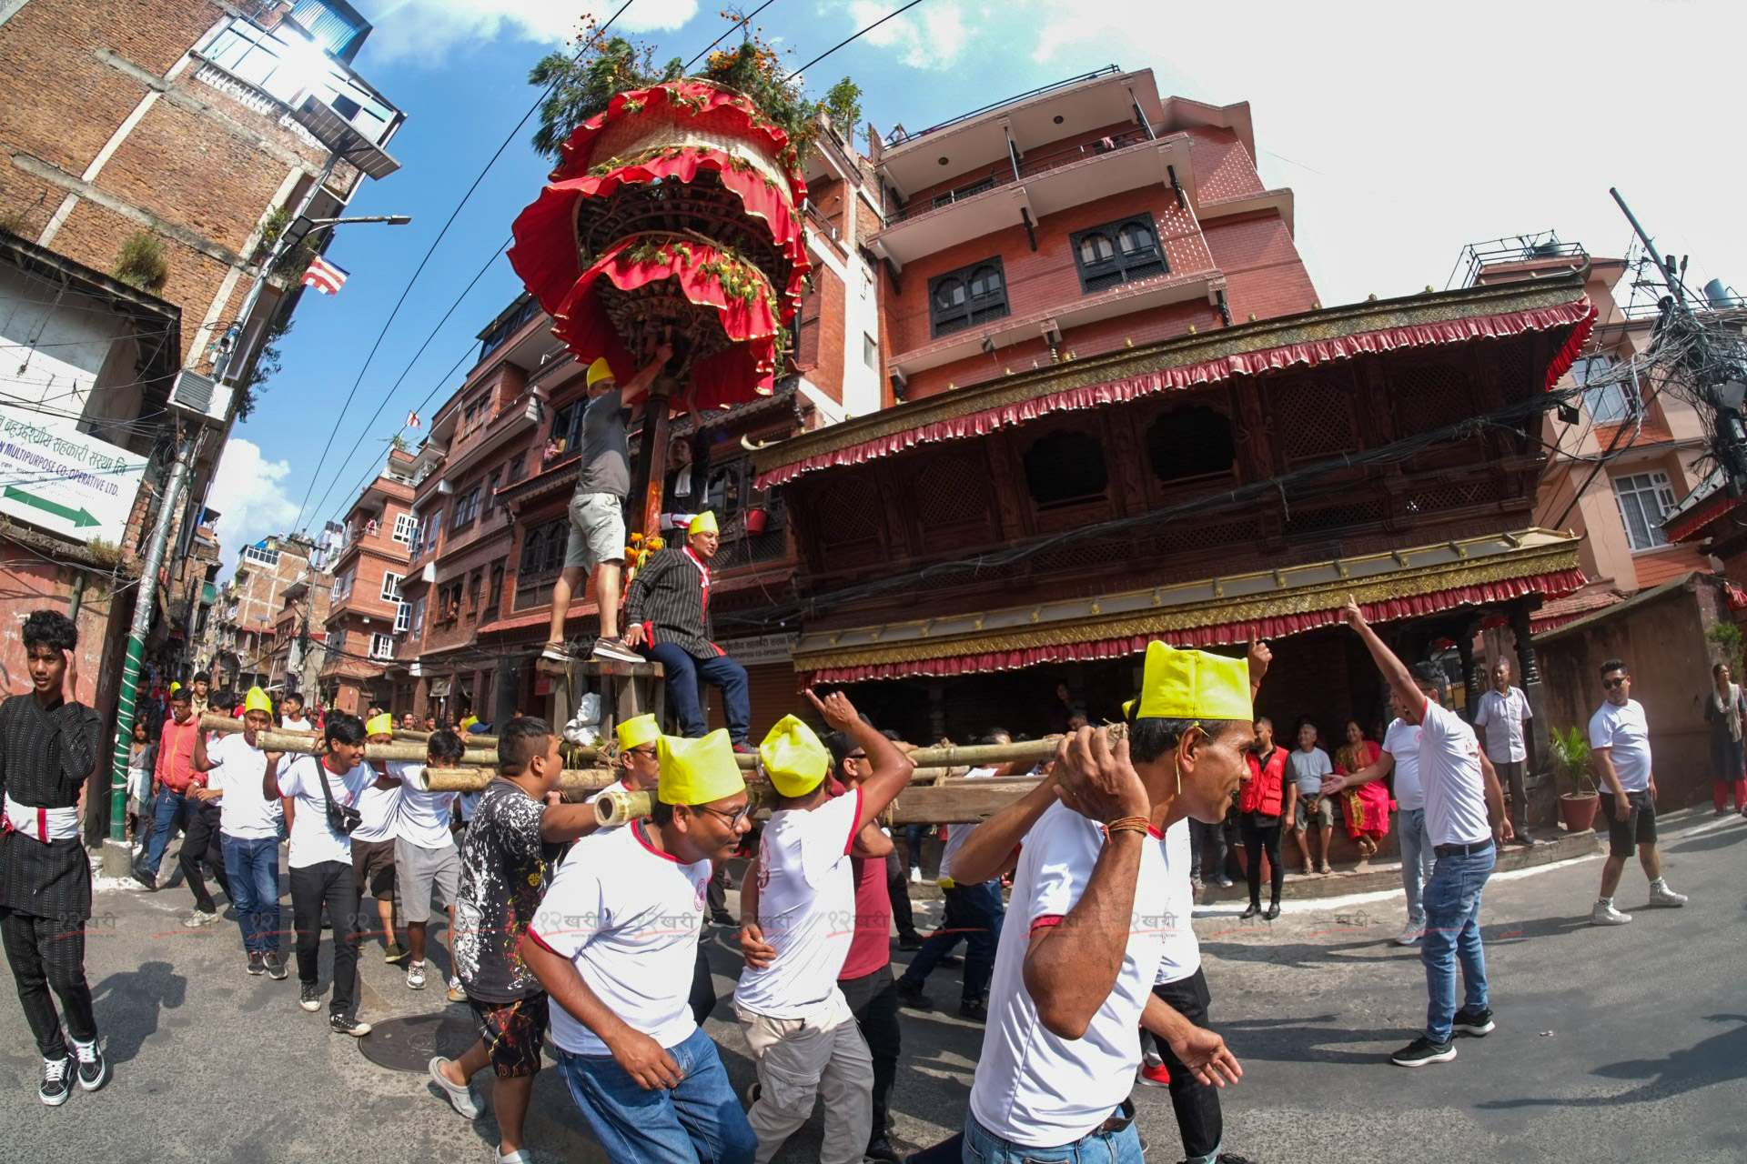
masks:
{"type": "Polygon", "coordinates": [[[79,843],[80,791],[98,764],[103,722],[75,696],[73,623],[58,611],[35,611],[21,637],[31,689],[0,703],[0,941],[44,1059],[38,1096],[58,1106],[75,1077],[86,1091],[108,1082],[86,984],[91,864],[79,843]]]}

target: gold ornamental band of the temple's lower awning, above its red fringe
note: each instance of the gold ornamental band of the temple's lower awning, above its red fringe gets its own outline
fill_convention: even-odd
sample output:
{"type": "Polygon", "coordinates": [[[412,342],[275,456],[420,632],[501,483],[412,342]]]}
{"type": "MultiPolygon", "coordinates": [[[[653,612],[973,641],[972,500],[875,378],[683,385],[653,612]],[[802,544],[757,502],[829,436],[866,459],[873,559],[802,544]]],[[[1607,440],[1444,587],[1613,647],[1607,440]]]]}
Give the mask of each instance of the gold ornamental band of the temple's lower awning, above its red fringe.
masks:
{"type": "MultiPolygon", "coordinates": [[[[1389,602],[1392,599],[1417,599],[1429,593],[1440,593],[1443,590],[1459,590],[1462,586],[1574,571],[1581,567],[1578,548],[1579,543],[1572,537],[1550,546],[1527,548],[1474,562],[1464,560],[1441,565],[1408,567],[1375,581],[1354,583],[1342,579],[1333,583],[1317,583],[1288,593],[1195,602],[1172,607],[1169,611],[1160,609],[1122,618],[1095,618],[1074,621],[1066,627],[1013,630],[992,635],[957,635],[952,639],[926,637],[898,646],[868,646],[846,651],[797,651],[795,670],[809,672],[872,667],[880,663],[922,663],[929,660],[954,658],[959,654],[985,654],[994,651],[1013,651],[1019,647],[1059,647],[1134,635],[1164,635],[1174,630],[1197,630],[1225,623],[1246,623],[1260,618],[1279,618],[1282,614],[1333,611],[1345,604],[1349,593],[1361,604],[1389,602]]],[[[1300,569],[1314,569],[1314,565],[1293,567],[1293,571],[1300,569]]],[[[1205,579],[1200,585],[1212,583],[1214,579],[1205,579]]]]}

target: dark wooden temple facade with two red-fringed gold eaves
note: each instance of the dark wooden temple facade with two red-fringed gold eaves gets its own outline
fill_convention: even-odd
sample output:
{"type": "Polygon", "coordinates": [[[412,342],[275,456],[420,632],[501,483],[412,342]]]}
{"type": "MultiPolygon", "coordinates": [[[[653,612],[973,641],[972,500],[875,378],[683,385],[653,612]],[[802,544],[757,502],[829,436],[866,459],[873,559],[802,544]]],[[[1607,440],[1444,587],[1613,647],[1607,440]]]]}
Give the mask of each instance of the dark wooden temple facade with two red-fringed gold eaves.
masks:
{"type": "Polygon", "coordinates": [[[1467,644],[1506,623],[1539,703],[1529,616],[1585,578],[1576,537],[1530,524],[1534,433],[1593,314],[1581,272],[1319,309],[763,448],[756,483],[800,551],[797,679],[849,684],[908,738],[1041,733],[1057,684],[1118,717],[1150,639],[1258,633],[1260,710],[1338,738],[1385,717],[1342,627],[1354,593],[1406,656],[1457,658],[1469,682],[1467,644]]]}

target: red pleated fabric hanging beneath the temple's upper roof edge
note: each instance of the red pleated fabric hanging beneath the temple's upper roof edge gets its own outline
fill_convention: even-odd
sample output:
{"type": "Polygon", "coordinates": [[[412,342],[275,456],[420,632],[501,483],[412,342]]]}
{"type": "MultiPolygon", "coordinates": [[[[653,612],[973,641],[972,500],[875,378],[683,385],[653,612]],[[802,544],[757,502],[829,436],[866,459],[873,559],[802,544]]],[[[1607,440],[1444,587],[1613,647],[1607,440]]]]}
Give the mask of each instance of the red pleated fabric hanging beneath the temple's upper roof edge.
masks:
{"type": "Polygon", "coordinates": [[[1102,405],[1137,400],[1153,393],[1172,389],[1200,387],[1218,384],[1233,375],[1261,375],[1263,372],[1281,372],[1293,366],[1314,366],[1333,359],[1352,359],[1354,356],[1403,351],[1412,347],[1431,347],[1436,344],[1460,344],[1476,339],[1502,339],[1525,332],[1543,332],[1553,328],[1571,328],[1571,335],[1560,346],[1553,361],[1546,366],[1544,387],[1558,382],[1571,363],[1583,351],[1590,328],[1595,326],[1595,305],[1588,297],[1557,307],[1537,307],[1532,311],[1511,311],[1495,316],[1474,316],[1469,319],[1450,319],[1445,323],[1420,323],[1403,328],[1384,328],[1380,332],[1359,332],[1328,340],[1307,344],[1288,344],[1263,351],[1239,353],[1219,359],[1164,368],[1144,375],[1092,384],[1088,387],[1071,387],[1034,400],[1022,400],[1012,405],[984,408],[966,415],[921,424],[914,429],[877,436],[856,445],[821,452],[790,464],[781,464],[758,475],[758,487],[770,489],[791,482],[802,473],[828,469],[842,464],[861,464],[874,457],[889,457],[914,445],[940,440],[957,440],[964,436],[984,436],[998,428],[1024,424],[1048,415],[1076,408],[1099,408],[1102,405]]]}

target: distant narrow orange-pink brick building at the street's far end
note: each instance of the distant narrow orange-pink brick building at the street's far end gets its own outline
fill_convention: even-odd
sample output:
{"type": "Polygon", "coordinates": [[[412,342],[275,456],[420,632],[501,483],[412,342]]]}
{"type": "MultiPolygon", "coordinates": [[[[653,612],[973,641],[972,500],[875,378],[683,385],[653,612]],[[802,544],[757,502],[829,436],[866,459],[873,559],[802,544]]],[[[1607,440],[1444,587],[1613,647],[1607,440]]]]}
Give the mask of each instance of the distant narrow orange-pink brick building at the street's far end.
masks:
{"type": "Polygon", "coordinates": [[[334,558],[334,588],[320,670],[325,707],[363,714],[393,703],[391,663],[411,627],[402,600],[414,534],[412,454],[388,452],[388,464],[346,513],[346,541],[334,558]]]}

